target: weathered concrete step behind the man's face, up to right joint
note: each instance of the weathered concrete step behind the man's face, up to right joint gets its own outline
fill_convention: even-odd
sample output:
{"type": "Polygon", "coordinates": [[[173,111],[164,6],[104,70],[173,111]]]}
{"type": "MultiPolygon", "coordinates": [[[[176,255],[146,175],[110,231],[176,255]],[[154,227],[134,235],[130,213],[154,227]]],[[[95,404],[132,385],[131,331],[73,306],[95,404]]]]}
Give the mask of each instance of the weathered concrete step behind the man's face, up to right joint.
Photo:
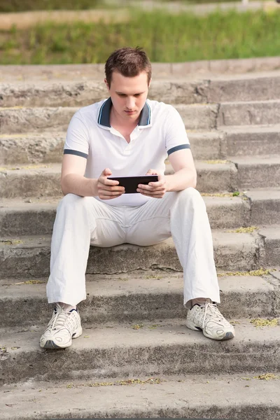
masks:
{"type": "MultiPolygon", "coordinates": [[[[154,80],[149,99],[167,104],[194,104],[207,101],[207,80],[154,80]],[[205,93],[204,93],[205,92],[205,93]]],[[[104,80],[1,83],[0,107],[87,106],[109,97],[104,80]]]]}

